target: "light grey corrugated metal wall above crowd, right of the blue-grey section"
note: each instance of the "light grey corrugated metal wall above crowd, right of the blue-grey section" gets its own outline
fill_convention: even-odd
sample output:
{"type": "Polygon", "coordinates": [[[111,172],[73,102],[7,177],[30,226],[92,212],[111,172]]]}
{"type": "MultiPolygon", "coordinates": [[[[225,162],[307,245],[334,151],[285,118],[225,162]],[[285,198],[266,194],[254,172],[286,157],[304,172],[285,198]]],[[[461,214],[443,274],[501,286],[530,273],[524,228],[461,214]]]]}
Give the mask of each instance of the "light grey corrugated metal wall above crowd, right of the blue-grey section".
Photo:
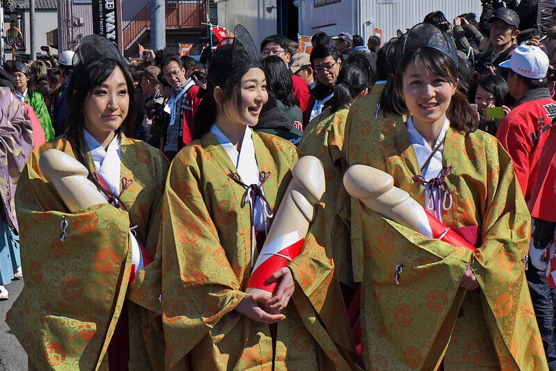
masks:
{"type": "MultiPolygon", "coordinates": [[[[397,4],[360,0],[360,5],[361,26],[358,31],[364,40],[372,35],[372,24],[383,30],[383,40],[389,40],[395,37],[397,29],[405,31],[406,28],[422,22],[425,15],[436,10],[441,10],[450,22],[462,13],[475,13],[478,20],[482,11],[480,0],[399,0],[397,4]],[[367,20],[371,24],[365,25],[364,22],[367,20]]],[[[354,24],[354,31],[355,28],[354,24]]]]}

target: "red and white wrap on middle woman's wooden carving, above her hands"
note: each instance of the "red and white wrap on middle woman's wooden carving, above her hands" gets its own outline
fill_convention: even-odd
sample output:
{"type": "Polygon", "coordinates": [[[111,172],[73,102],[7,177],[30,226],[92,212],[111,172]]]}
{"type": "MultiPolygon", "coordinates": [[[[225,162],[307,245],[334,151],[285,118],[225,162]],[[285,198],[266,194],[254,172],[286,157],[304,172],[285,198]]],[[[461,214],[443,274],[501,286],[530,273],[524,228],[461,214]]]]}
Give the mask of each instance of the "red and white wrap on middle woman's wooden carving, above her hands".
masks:
{"type": "Polygon", "coordinates": [[[247,288],[256,288],[274,293],[277,283],[268,283],[267,280],[272,274],[288,265],[299,255],[303,240],[304,238],[300,238],[299,233],[294,230],[274,239],[269,244],[265,244],[257,262],[255,262],[251,277],[247,281],[247,288]]]}

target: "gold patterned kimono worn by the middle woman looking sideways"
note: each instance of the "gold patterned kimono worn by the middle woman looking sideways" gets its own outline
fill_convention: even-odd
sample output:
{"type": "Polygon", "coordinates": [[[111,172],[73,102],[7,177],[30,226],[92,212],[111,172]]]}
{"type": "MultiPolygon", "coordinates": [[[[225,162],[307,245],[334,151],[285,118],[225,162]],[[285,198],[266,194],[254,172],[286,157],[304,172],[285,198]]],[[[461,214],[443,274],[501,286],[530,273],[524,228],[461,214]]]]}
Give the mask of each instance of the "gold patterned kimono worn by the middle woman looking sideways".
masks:
{"type": "MultiPolygon", "coordinates": [[[[296,148],[257,132],[253,145],[259,170],[270,172],[264,194],[276,210],[292,178],[296,148]]],[[[269,325],[234,310],[245,295],[251,259],[257,256],[250,256],[246,190],[230,173],[236,173],[235,166],[210,132],[180,151],[170,167],[156,264],[138,281],[148,293],[141,294],[146,306],[157,306],[149,298],[158,290],[162,294],[168,368],[271,370],[269,325]]],[[[351,358],[347,317],[334,306],[341,300],[340,290],[333,260],[322,246],[309,232],[300,255],[288,265],[296,285],[283,310],[286,319],[278,323],[276,370],[350,367],[342,358],[351,358]]]]}

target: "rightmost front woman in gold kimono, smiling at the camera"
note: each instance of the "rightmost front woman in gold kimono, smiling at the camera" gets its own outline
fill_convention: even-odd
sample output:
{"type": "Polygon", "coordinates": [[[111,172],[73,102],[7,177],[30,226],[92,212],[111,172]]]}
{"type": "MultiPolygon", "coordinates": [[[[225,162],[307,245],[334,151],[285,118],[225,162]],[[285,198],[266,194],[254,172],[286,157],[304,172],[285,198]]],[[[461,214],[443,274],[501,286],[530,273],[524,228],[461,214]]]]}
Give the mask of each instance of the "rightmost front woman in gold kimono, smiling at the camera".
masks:
{"type": "Polygon", "coordinates": [[[511,158],[476,130],[456,88],[450,36],[418,24],[399,40],[397,58],[396,93],[408,120],[399,135],[388,135],[392,121],[373,131],[367,140],[376,145],[362,164],[390,174],[476,250],[356,204],[365,368],[546,370],[525,280],[530,216],[511,158]]]}

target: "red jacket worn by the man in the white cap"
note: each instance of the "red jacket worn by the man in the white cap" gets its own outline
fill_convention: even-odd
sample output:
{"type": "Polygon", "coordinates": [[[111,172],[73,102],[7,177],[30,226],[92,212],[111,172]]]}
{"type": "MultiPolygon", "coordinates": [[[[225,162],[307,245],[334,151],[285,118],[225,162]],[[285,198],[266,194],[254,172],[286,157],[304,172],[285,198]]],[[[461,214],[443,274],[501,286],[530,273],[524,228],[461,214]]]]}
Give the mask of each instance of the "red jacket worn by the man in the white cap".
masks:
{"type": "Polygon", "coordinates": [[[531,198],[537,165],[556,117],[556,102],[547,88],[529,90],[502,119],[496,138],[514,161],[514,170],[525,200],[531,198]]]}

